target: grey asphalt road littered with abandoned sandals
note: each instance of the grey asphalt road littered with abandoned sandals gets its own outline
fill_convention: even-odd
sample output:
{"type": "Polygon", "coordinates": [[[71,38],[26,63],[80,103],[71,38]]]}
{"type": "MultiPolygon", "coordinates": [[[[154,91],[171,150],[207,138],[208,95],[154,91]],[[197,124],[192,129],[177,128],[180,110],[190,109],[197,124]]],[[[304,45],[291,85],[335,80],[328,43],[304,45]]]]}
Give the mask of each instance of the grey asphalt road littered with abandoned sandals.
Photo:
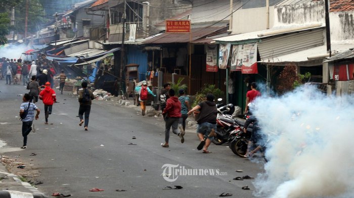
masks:
{"type": "MultiPolygon", "coordinates": [[[[134,108],[120,106],[116,101],[93,101],[89,131],[78,126],[76,96],[58,94],[49,123],[42,110],[34,121],[36,133],[28,136],[27,150],[22,146],[21,121],[18,112],[22,85],[5,85],[0,81],[0,139],[7,145],[0,149],[5,155],[33,158],[34,169],[40,171],[39,190],[72,194],[73,197],[217,197],[222,192],[234,197],[253,197],[252,180],[236,181],[237,176],[256,176],[262,164],[240,158],[227,145],[211,145],[211,154],[196,150],[199,143],[194,130],[186,133],[180,143],[171,132],[170,147],[162,148],[164,123],[161,118],[142,117],[134,108]],[[53,123],[53,124],[52,124],[53,123]],[[132,139],[135,136],[137,139],[132,139]],[[128,145],[134,143],[136,145],[128,145]],[[29,154],[36,153],[34,157],[29,154]],[[25,157],[28,156],[28,157],[25,157]],[[162,166],[172,164],[185,169],[218,169],[219,175],[179,175],[169,182],[164,179],[162,166]],[[238,173],[235,170],[242,169],[238,173]],[[163,190],[165,186],[181,185],[183,189],[163,190]],[[248,185],[250,190],[242,190],[248,185]],[[101,188],[104,191],[90,192],[101,188]],[[126,191],[116,191],[124,189],[126,191]]],[[[58,90],[56,92],[59,93],[58,90]]],[[[28,160],[27,159],[27,160],[28,160]]],[[[169,176],[168,178],[171,178],[169,176]]]]}

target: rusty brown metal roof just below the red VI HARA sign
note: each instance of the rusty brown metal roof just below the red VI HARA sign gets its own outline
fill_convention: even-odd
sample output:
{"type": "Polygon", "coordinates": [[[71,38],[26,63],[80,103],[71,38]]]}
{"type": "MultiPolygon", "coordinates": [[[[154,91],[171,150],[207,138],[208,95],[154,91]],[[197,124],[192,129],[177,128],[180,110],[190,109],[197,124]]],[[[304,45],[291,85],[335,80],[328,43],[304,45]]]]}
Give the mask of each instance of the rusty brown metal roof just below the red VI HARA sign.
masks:
{"type": "Polygon", "coordinates": [[[147,41],[144,41],[145,44],[149,43],[188,43],[190,41],[195,41],[204,36],[207,36],[213,32],[216,32],[225,27],[208,27],[208,28],[193,28],[191,33],[187,34],[166,34],[163,33],[159,36],[153,37],[147,41]]]}

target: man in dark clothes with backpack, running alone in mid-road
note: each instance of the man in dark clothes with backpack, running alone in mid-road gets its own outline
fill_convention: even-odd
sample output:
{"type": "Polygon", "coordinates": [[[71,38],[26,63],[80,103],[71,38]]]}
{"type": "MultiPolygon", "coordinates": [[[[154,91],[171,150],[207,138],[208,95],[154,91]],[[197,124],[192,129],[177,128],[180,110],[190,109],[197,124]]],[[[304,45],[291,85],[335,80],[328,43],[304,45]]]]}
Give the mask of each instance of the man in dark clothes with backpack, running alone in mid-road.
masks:
{"type": "Polygon", "coordinates": [[[79,126],[83,124],[83,114],[85,114],[85,124],[83,125],[85,130],[89,126],[89,117],[90,117],[90,111],[91,111],[91,104],[92,100],[95,99],[94,94],[92,93],[91,90],[87,89],[87,82],[82,82],[81,83],[82,90],[79,91],[79,118],[80,118],[80,123],[79,126]]]}

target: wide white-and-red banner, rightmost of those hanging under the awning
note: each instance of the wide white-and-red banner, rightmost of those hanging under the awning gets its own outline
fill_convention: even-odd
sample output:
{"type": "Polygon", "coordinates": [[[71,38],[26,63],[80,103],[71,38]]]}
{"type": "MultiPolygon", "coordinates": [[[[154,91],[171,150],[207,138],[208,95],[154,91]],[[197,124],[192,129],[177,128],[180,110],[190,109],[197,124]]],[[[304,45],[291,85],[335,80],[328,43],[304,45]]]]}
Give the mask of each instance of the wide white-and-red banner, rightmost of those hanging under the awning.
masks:
{"type": "Polygon", "coordinates": [[[231,71],[242,74],[258,74],[257,43],[234,45],[232,48],[231,71]]]}

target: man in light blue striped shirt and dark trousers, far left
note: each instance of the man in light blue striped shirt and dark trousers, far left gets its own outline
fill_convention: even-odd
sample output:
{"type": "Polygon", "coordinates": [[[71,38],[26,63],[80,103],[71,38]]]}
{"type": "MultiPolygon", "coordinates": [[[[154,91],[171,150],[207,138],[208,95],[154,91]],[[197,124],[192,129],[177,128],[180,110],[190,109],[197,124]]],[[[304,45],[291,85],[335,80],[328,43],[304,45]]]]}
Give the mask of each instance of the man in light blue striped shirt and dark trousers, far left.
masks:
{"type": "Polygon", "coordinates": [[[22,119],[23,146],[21,147],[21,149],[27,149],[27,136],[32,130],[33,119],[35,118],[37,120],[40,112],[39,108],[37,108],[35,104],[29,102],[30,99],[31,97],[29,96],[29,94],[25,94],[22,98],[23,102],[20,107],[20,116],[24,113],[25,110],[28,109],[27,116],[22,119]],[[35,116],[34,110],[37,111],[35,116]]]}

